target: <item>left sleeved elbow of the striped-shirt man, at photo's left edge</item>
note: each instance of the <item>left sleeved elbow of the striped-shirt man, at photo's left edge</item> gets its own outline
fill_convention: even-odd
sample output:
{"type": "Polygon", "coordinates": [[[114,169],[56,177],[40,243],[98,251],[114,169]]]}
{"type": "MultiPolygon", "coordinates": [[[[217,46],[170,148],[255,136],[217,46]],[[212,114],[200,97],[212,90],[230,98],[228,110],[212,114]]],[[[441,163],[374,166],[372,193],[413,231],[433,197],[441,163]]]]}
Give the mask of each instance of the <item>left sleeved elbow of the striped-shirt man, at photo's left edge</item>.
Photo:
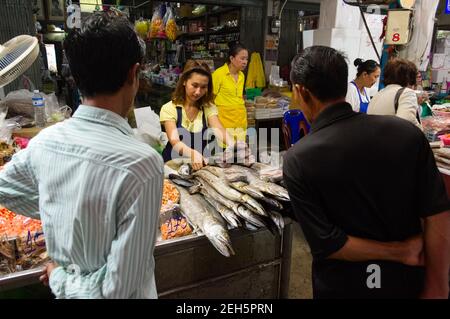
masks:
{"type": "Polygon", "coordinates": [[[39,218],[39,192],[30,163],[30,146],[15,154],[0,171],[0,205],[39,218]]]}

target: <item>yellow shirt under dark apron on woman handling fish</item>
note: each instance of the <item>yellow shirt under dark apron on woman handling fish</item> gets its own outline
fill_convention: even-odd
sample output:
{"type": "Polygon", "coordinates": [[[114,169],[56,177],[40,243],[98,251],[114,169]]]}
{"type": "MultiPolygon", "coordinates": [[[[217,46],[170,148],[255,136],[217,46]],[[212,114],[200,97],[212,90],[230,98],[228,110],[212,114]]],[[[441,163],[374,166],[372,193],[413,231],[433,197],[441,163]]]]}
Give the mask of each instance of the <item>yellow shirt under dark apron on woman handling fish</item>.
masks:
{"type": "Polygon", "coordinates": [[[159,121],[161,123],[165,121],[177,121],[177,107],[182,108],[182,120],[181,120],[181,126],[183,126],[186,130],[188,130],[191,133],[198,133],[201,132],[203,128],[203,111],[205,112],[205,119],[206,124],[208,125],[208,119],[213,116],[217,115],[217,108],[215,105],[210,106],[204,106],[203,111],[199,110],[197,117],[194,119],[194,121],[190,121],[189,118],[186,115],[186,111],[184,110],[184,107],[182,105],[175,105],[172,101],[166,103],[161,108],[161,112],[159,113],[159,121]]]}

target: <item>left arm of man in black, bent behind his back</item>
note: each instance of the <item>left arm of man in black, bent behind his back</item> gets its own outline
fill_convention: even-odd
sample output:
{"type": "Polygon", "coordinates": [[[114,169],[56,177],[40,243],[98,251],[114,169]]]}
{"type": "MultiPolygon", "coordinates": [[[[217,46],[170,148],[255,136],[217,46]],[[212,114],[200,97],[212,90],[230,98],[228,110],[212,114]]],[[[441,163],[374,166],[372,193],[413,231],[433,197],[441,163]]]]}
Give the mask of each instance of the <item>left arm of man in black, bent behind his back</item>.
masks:
{"type": "Polygon", "coordinates": [[[418,236],[404,242],[379,242],[348,236],[333,224],[324,212],[319,191],[308,183],[295,158],[288,155],[283,165],[284,180],[294,215],[315,258],[347,261],[387,260],[408,265],[420,264],[422,239],[418,236]]]}

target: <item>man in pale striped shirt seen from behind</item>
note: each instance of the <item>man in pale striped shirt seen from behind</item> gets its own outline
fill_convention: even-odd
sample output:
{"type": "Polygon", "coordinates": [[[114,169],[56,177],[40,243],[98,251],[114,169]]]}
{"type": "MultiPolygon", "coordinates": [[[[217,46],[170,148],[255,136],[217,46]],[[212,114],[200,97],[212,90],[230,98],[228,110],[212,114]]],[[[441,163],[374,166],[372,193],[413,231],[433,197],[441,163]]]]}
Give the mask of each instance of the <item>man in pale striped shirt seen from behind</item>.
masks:
{"type": "Polygon", "coordinates": [[[96,13],[64,43],[84,96],[0,172],[0,204],[40,218],[57,298],[157,298],[153,251],[163,161],[133,137],[143,50],[122,17],[96,13]]]}

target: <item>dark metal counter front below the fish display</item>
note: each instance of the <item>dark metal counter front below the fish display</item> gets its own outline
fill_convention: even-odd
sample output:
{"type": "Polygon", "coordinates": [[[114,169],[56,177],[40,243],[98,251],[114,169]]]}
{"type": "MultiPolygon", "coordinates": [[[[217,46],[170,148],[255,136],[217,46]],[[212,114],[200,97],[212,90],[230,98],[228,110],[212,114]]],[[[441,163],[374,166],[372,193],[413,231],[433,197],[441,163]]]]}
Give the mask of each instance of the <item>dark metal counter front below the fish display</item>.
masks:
{"type": "MultiPolygon", "coordinates": [[[[155,247],[159,298],[287,298],[292,221],[283,234],[230,230],[236,254],[222,256],[205,236],[161,241],[155,247]]],[[[50,298],[39,283],[42,268],[0,276],[0,298],[50,298]]]]}

